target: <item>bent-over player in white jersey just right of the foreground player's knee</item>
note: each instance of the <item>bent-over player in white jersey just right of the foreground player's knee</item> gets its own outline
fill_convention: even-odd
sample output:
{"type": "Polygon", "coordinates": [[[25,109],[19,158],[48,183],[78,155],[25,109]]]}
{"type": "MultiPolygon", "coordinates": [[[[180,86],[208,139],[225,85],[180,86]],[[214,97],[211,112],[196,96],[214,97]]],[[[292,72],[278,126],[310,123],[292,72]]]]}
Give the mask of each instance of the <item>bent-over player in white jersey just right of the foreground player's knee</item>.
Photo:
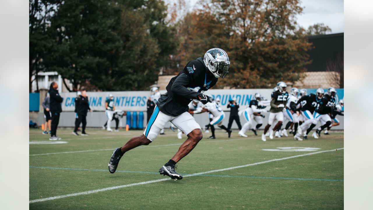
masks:
{"type": "Polygon", "coordinates": [[[203,113],[203,112],[210,112],[213,115],[213,119],[210,122],[210,128],[211,128],[211,134],[212,136],[209,137],[209,139],[215,139],[215,127],[214,125],[217,125],[217,127],[220,127],[221,129],[228,132],[228,138],[231,138],[232,130],[228,130],[223,124],[223,120],[225,118],[225,113],[222,110],[222,108],[219,107],[219,105],[216,104],[215,101],[208,102],[202,107],[202,110],[200,112],[195,111],[194,113],[203,113]]]}

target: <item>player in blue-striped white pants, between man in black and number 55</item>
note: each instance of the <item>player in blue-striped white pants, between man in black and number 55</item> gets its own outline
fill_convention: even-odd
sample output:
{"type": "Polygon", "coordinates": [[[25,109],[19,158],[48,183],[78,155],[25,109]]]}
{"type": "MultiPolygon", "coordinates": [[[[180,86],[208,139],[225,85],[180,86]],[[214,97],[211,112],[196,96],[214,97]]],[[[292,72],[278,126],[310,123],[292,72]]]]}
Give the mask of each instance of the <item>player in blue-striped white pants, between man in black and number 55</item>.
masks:
{"type": "MultiPolygon", "coordinates": [[[[263,124],[260,114],[267,113],[267,110],[258,108],[259,106],[258,104],[261,100],[260,93],[255,93],[254,98],[255,99],[251,100],[249,106],[242,112],[246,120],[246,123],[242,126],[241,130],[238,132],[238,135],[242,137],[247,137],[245,133],[247,132],[248,129],[250,129],[250,127],[253,126],[253,120],[257,122],[257,127],[260,127],[263,124]]],[[[257,135],[256,129],[255,130],[253,129],[253,132],[255,135],[257,135]]]]}

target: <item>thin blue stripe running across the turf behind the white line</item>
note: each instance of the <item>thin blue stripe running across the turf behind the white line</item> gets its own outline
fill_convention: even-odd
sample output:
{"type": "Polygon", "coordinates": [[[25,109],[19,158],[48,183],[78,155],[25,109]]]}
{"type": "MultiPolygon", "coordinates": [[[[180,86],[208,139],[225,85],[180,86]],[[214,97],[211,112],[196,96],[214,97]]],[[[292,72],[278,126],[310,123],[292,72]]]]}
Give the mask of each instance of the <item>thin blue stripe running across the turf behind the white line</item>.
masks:
{"type": "MultiPolygon", "coordinates": [[[[107,172],[107,169],[70,169],[70,168],[55,168],[55,167],[38,167],[38,166],[29,166],[29,168],[37,169],[60,169],[60,170],[76,170],[76,171],[99,171],[107,172]]],[[[116,172],[126,172],[126,173],[147,173],[147,174],[159,174],[159,172],[132,172],[132,171],[120,171],[116,172]]],[[[181,174],[181,175],[190,175],[190,174],[181,174]]],[[[201,174],[197,176],[213,176],[213,177],[230,177],[230,178],[255,178],[255,179],[289,179],[289,180],[313,180],[313,181],[331,181],[331,182],[343,182],[343,179],[305,179],[305,178],[286,178],[286,177],[262,177],[262,176],[229,176],[229,175],[209,175],[201,174]]]]}

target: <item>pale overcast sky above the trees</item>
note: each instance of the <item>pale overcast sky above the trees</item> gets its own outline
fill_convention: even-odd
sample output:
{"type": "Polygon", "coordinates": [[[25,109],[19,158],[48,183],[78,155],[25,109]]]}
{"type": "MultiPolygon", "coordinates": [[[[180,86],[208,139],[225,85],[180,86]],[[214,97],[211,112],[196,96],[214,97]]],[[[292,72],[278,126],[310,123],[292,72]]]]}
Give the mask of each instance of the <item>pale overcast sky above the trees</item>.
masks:
{"type": "MultiPolygon", "coordinates": [[[[166,3],[175,0],[165,0],[166,3]]],[[[185,0],[189,8],[193,7],[197,0],[185,0]]],[[[297,22],[307,29],[310,25],[323,23],[332,29],[332,34],[344,32],[343,28],[343,0],[301,0],[304,7],[303,13],[298,15],[297,22]]]]}

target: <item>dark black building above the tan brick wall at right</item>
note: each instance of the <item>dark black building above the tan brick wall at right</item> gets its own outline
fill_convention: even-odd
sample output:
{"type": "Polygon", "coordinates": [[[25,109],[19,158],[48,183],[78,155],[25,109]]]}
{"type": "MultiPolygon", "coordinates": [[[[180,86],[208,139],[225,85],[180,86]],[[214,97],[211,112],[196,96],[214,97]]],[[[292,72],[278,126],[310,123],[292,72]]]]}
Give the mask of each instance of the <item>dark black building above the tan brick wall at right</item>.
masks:
{"type": "Polygon", "coordinates": [[[325,63],[328,59],[343,58],[344,33],[308,36],[308,42],[314,47],[308,51],[312,63],[307,65],[307,71],[326,71],[325,63]]]}

